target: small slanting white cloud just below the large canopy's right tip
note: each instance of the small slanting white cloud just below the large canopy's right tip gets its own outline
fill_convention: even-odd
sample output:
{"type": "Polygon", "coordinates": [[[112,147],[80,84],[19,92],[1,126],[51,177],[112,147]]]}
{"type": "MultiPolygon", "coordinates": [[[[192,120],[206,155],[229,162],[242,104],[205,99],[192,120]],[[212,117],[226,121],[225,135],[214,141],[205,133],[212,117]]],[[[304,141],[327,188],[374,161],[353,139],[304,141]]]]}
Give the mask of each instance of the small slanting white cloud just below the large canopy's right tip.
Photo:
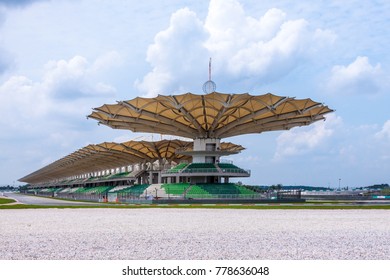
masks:
{"type": "Polygon", "coordinates": [[[310,127],[297,127],[282,132],[276,139],[274,159],[302,155],[318,148],[334,134],[340,124],[341,118],[331,114],[326,121],[318,121],[310,127]]]}

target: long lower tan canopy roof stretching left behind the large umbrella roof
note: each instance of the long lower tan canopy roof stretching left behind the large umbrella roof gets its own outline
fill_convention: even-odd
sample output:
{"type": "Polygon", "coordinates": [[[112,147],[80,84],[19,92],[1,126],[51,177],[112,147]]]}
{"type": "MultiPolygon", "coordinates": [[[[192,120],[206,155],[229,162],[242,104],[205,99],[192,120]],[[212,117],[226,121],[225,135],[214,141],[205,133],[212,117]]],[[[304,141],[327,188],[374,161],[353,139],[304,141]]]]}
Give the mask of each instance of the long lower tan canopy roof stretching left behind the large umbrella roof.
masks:
{"type": "MultiPolygon", "coordinates": [[[[189,160],[190,156],[176,154],[176,150],[192,149],[193,142],[161,140],[156,142],[128,141],[91,144],[71,153],[21,179],[21,182],[41,183],[160,159],[189,160]]],[[[233,143],[221,143],[221,150],[239,152],[244,148],[233,143]]]]}

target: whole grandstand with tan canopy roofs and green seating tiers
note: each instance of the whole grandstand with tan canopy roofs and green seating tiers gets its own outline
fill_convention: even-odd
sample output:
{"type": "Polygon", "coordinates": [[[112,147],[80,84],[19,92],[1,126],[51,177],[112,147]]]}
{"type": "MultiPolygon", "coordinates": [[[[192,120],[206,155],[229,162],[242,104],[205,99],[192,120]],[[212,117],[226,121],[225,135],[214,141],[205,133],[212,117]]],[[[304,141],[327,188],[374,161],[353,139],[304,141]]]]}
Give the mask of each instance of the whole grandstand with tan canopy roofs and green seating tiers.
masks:
{"type": "Polygon", "coordinates": [[[104,104],[88,118],[113,129],[159,133],[192,141],[91,144],[19,179],[26,192],[86,200],[259,198],[229,182],[249,177],[222,157],[244,148],[223,138],[310,125],[332,112],[311,99],[264,95],[186,93],[104,104]]]}

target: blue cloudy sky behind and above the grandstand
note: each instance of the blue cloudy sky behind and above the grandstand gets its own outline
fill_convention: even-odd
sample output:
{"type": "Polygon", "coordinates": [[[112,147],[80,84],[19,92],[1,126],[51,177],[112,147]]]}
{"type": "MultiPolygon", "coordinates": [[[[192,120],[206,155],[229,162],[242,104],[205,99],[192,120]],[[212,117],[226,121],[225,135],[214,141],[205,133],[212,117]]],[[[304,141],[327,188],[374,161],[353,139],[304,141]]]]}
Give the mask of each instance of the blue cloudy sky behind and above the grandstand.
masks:
{"type": "Polygon", "coordinates": [[[92,108],[217,91],[311,98],[334,109],[289,131],[223,139],[245,184],[390,183],[387,0],[0,0],[0,185],[88,145],[146,135],[92,108]]]}

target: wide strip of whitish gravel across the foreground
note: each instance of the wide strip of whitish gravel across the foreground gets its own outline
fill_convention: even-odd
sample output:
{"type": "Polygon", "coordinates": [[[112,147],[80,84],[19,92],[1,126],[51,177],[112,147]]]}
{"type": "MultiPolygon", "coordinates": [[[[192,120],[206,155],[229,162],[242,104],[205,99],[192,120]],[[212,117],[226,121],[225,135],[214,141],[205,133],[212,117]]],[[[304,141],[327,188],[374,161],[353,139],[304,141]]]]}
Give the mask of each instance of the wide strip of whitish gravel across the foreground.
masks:
{"type": "Polygon", "coordinates": [[[389,260],[390,211],[0,210],[0,260],[389,260]]]}

